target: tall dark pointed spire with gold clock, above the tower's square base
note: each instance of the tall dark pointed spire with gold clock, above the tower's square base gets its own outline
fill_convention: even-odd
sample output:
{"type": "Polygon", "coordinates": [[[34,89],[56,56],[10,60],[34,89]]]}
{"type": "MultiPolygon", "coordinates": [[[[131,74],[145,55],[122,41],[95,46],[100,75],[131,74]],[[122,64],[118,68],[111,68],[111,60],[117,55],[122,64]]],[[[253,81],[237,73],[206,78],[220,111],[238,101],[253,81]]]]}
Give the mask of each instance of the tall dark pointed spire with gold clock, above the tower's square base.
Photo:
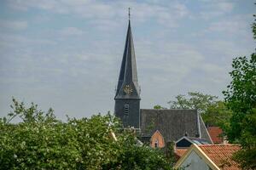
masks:
{"type": "Polygon", "coordinates": [[[129,8],[129,24],[126,34],[125,51],[119,73],[119,82],[115,99],[140,99],[137,79],[136,57],[131,33],[131,20],[129,8]],[[125,92],[126,89],[126,92],[125,92]]]}

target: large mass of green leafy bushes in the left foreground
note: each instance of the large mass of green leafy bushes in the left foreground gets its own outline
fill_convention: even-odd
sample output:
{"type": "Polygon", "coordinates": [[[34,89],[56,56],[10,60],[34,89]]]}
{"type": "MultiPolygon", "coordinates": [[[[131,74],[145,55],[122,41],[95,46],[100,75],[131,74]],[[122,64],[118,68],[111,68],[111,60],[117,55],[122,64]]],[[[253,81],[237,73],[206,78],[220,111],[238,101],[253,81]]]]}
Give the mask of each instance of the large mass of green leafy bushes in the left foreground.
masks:
{"type": "Polygon", "coordinates": [[[137,144],[111,116],[57,120],[53,110],[26,108],[13,99],[13,112],[0,119],[1,169],[170,169],[165,157],[137,144]],[[22,122],[12,124],[18,116],[22,122]],[[113,139],[110,132],[117,136],[113,139]]]}

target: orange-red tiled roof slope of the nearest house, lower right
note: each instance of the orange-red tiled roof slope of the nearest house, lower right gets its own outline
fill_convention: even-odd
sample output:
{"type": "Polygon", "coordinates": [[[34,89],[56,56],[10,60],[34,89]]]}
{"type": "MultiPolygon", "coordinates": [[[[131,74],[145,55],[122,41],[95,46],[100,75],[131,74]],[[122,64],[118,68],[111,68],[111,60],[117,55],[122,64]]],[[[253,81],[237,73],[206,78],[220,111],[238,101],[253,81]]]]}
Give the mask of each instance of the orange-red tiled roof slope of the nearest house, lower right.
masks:
{"type": "Polygon", "coordinates": [[[232,160],[233,154],[240,150],[238,144],[202,144],[199,147],[220,169],[241,169],[236,161],[232,160]]]}

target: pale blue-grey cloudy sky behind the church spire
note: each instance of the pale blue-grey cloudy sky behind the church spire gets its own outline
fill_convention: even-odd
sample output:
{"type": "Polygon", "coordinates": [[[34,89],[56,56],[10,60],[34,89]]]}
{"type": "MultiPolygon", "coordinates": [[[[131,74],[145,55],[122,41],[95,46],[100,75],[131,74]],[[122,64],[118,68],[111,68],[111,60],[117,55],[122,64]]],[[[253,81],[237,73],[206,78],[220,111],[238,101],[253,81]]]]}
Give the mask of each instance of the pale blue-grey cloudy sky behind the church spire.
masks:
{"type": "Polygon", "coordinates": [[[254,2],[3,0],[0,116],[12,96],[62,120],[113,111],[128,7],[142,108],[189,91],[222,99],[232,59],[255,48],[254,2]]]}

